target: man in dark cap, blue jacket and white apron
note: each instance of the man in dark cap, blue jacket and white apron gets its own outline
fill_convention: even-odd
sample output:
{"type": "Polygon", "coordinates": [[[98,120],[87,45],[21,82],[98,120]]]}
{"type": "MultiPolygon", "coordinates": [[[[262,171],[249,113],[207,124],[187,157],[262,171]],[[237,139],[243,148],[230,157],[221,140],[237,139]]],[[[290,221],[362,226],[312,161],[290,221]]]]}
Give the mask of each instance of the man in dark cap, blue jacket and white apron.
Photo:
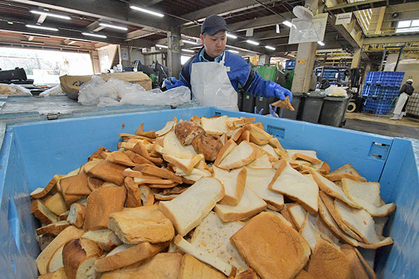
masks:
{"type": "Polygon", "coordinates": [[[182,66],[179,80],[175,77],[165,80],[166,88],[188,86],[200,105],[226,110],[238,110],[239,84],[253,96],[276,97],[281,100],[289,96],[291,102],[291,91],[274,82],[263,80],[241,56],[225,51],[227,31],[223,17],[207,17],[201,26],[200,39],[203,48],[182,66]]]}

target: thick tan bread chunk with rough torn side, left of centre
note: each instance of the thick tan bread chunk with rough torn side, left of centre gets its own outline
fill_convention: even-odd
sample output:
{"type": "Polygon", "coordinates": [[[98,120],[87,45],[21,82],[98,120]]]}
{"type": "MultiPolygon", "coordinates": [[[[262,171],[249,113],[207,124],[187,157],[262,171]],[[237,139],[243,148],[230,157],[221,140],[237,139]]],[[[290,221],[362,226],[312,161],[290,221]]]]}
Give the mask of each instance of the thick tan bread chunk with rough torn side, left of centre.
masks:
{"type": "Polygon", "coordinates": [[[175,236],[172,222],[157,204],[110,213],[108,228],[128,244],[165,242],[175,236]]]}

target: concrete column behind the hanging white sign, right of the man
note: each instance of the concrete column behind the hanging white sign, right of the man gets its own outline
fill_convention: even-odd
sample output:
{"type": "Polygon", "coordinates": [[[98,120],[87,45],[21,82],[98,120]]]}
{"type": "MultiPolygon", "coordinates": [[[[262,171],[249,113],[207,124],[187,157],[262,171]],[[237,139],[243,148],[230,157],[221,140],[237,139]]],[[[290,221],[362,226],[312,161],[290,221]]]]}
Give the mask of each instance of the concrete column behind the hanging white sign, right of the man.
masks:
{"type": "MultiPolygon", "coordinates": [[[[316,15],[323,13],[324,4],[318,0],[306,0],[310,10],[316,15]]],[[[310,88],[311,75],[313,74],[314,60],[316,59],[317,43],[298,44],[297,57],[295,58],[294,78],[291,91],[294,93],[308,92],[310,88]]]]}

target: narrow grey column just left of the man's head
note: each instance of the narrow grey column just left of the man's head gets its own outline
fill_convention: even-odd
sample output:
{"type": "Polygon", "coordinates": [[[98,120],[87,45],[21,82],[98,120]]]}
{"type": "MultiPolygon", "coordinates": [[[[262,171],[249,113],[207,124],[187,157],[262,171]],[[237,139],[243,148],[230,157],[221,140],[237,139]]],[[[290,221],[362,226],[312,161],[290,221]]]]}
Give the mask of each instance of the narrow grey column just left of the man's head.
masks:
{"type": "Polygon", "coordinates": [[[171,26],[168,32],[168,68],[169,76],[179,78],[180,69],[180,27],[171,26]]]}

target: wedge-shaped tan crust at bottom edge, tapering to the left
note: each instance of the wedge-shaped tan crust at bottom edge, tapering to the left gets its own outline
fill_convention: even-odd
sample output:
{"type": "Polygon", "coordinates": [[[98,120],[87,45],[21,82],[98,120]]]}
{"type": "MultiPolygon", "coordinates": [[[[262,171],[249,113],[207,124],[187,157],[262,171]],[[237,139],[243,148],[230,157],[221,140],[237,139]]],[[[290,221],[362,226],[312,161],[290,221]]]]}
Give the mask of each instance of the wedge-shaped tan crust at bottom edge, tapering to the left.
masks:
{"type": "Polygon", "coordinates": [[[161,252],[123,269],[103,273],[101,279],[177,279],[182,254],[161,252]]]}

